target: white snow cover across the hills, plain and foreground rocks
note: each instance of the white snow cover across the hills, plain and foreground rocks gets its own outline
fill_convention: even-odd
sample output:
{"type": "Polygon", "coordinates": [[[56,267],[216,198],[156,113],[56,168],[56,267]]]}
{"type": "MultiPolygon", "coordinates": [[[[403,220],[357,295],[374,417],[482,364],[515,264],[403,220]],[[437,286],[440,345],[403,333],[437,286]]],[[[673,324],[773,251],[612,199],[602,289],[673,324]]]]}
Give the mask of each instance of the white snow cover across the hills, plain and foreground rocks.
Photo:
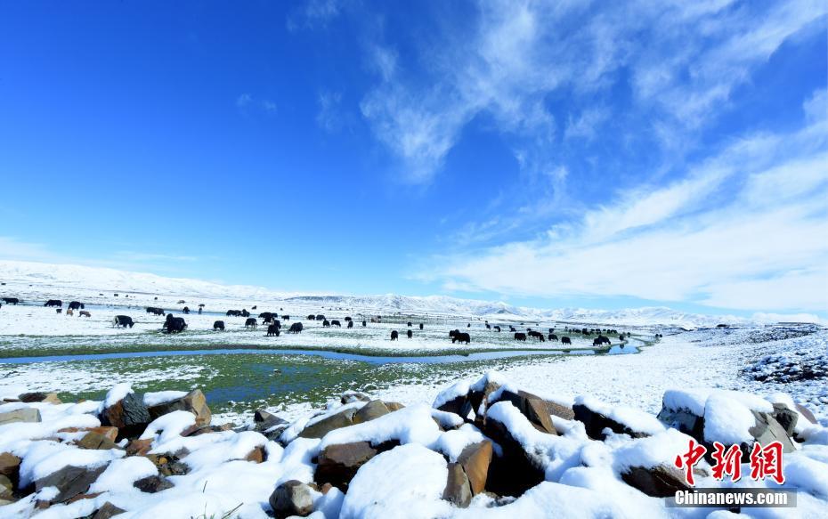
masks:
{"type": "MultiPolygon", "coordinates": [[[[816,415],[821,426],[828,426],[828,378],[824,369],[828,362],[828,330],[819,324],[770,325],[722,316],[697,316],[672,312],[669,309],[621,312],[537,311],[506,304],[464,302],[444,297],[289,295],[272,293],[260,288],[224,287],[214,283],[170,280],[129,272],[55,265],[45,268],[38,266],[39,264],[32,265],[0,262],[0,280],[5,283],[4,286],[0,286],[0,296],[14,296],[23,300],[23,304],[3,304],[0,308],[0,358],[4,356],[4,352],[14,355],[27,352],[37,354],[44,348],[66,348],[69,351],[83,350],[96,345],[107,345],[110,350],[115,351],[122,346],[126,348],[134,345],[142,345],[143,349],[149,350],[155,346],[158,346],[158,349],[175,349],[176,345],[270,345],[353,351],[391,349],[401,354],[443,352],[451,351],[452,348],[462,351],[467,349],[467,346],[451,345],[447,332],[453,328],[463,328],[466,323],[472,325],[471,328],[467,328],[473,337],[473,343],[468,347],[492,350],[524,349],[540,345],[532,342],[516,343],[512,340],[512,334],[507,331],[497,334],[486,330],[483,327],[484,320],[504,326],[511,324],[519,329],[537,326],[543,330],[552,326],[560,330],[574,323],[587,323],[584,326],[588,328],[596,326],[633,331],[636,337],[642,339],[649,339],[655,333],[662,333],[664,337],[637,354],[532,358],[503,369],[500,377],[549,401],[572,403],[579,397],[586,397],[597,399],[609,406],[634,407],[653,416],[662,408],[665,394],[670,394],[671,391],[685,392],[682,394],[709,394],[711,390],[737,390],[767,398],[769,401],[799,403],[816,415]],[[118,297],[114,296],[115,293],[118,293],[118,297]],[[92,317],[78,317],[77,312],[75,316],[67,316],[43,307],[46,299],[53,298],[63,300],[64,312],[70,300],[82,301],[92,313],[92,317]],[[166,310],[174,309],[176,315],[180,315],[178,311],[184,305],[178,303],[180,300],[186,301],[185,304],[193,310],[198,308],[199,303],[203,303],[206,312],[202,315],[191,313],[184,316],[189,328],[183,334],[167,336],[159,333],[163,318],[147,314],[143,311],[144,307],[160,306],[166,310]],[[256,311],[251,309],[253,304],[257,305],[256,311]],[[263,327],[260,326],[255,331],[247,330],[243,327],[242,318],[223,315],[227,309],[241,308],[247,308],[254,316],[264,311],[289,313],[291,321],[283,324],[289,325],[292,321],[301,320],[305,330],[296,336],[282,334],[280,337],[264,337],[263,327]],[[349,330],[345,327],[321,328],[321,324],[316,321],[302,319],[308,313],[320,312],[325,313],[329,319],[342,320],[343,324],[345,315],[352,316],[358,322],[355,323],[355,328],[349,330]],[[136,321],[134,328],[113,328],[112,318],[117,314],[132,316],[136,321]],[[368,328],[361,328],[359,320],[363,316],[369,319],[372,315],[383,315],[383,322],[369,323],[368,328]],[[212,331],[214,320],[224,320],[227,331],[212,331]],[[411,339],[404,336],[404,331],[408,329],[405,324],[407,320],[412,320],[415,324],[414,337],[411,339]],[[426,323],[424,330],[418,329],[418,321],[426,323]],[[719,322],[726,322],[732,327],[715,328],[719,322]],[[392,329],[401,331],[400,339],[394,342],[388,340],[392,329]],[[693,393],[694,390],[696,393],[693,393]]],[[[811,319],[805,316],[805,320],[811,319]]],[[[591,345],[586,338],[576,335],[571,337],[575,343],[573,347],[591,345]]],[[[542,346],[549,347],[550,344],[542,346]]],[[[201,374],[201,370],[203,367],[193,362],[185,368],[179,366],[167,372],[163,369],[147,370],[131,374],[125,380],[110,380],[105,367],[101,366],[88,369],[73,362],[22,364],[15,366],[11,372],[6,371],[0,378],[0,397],[14,397],[30,390],[69,391],[64,387],[109,388],[116,382],[138,384],[142,380],[157,380],[164,377],[187,380],[188,377],[201,374]]],[[[483,369],[479,366],[467,369],[459,365],[456,379],[466,380],[468,385],[482,374],[483,369]]],[[[418,412],[416,406],[424,403],[430,405],[444,389],[443,383],[401,377],[398,384],[382,387],[372,394],[385,401],[402,402],[409,406],[412,412],[418,412]]],[[[329,405],[338,403],[337,394],[329,396],[332,399],[329,405]]],[[[90,420],[86,413],[97,409],[95,406],[98,404],[92,402],[51,407],[47,407],[51,404],[32,405],[41,410],[44,423],[51,424],[45,426],[48,429],[55,424],[63,427],[76,422],[78,425],[91,426],[93,420],[90,420]]],[[[11,410],[15,406],[20,404],[0,406],[0,412],[11,410]]],[[[501,408],[495,412],[506,413],[503,416],[507,417],[511,411],[501,408]]],[[[288,407],[287,410],[280,409],[282,416],[296,419],[296,423],[303,426],[318,412],[319,410],[310,409],[306,403],[297,403],[295,407],[288,407]]],[[[214,423],[233,420],[237,425],[250,425],[251,416],[245,413],[238,416],[223,416],[218,420],[215,418],[218,417],[214,417],[214,423]]],[[[556,426],[558,425],[556,422],[556,426]]],[[[2,427],[8,426],[0,426],[2,427]]],[[[12,427],[5,431],[9,434],[0,435],[0,451],[11,448],[12,443],[9,442],[14,443],[14,449],[23,450],[25,445],[28,445],[26,442],[36,437],[47,438],[53,434],[51,429],[38,431],[27,440],[15,433],[18,429],[20,427],[12,427]]],[[[160,428],[158,430],[157,441],[163,442],[162,437],[168,437],[169,434],[160,428]]],[[[434,458],[416,447],[428,443],[426,447],[433,448],[435,442],[439,441],[444,445],[443,451],[451,450],[451,442],[457,440],[453,436],[457,434],[452,431],[443,434],[446,437],[434,436],[428,441],[423,440],[424,436],[416,436],[416,440],[403,442],[410,443],[410,448],[399,452],[391,450],[377,456],[366,465],[364,474],[355,479],[353,484],[357,489],[376,487],[376,474],[394,471],[406,464],[410,466],[410,470],[425,474],[423,477],[428,474],[441,474],[444,479],[445,462],[442,461],[441,464],[442,457],[434,458]],[[396,453],[392,455],[394,452],[396,453]]],[[[468,434],[478,433],[472,431],[468,434]]],[[[320,441],[306,439],[291,442],[287,448],[283,448],[252,432],[248,435],[227,432],[204,436],[215,438],[202,439],[189,445],[192,450],[204,450],[202,454],[192,458],[193,463],[199,462],[199,459],[203,459],[203,463],[199,462],[188,476],[174,476],[182,479],[175,481],[174,489],[159,492],[158,498],[142,492],[136,493],[131,487],[123,494],[114,491],[118,485],[124,486],[124,482],[128,480],[127,473],[144,474],[150,471],[150,467],[138,466],[141,462],[127,461],[126,458],[120,459],[113,455],[114,458],[105,460],[110,463],[107,472],[104,473],[105,477],[101,476],[95,483],[98,485],[96,489],[104,492],[102,495],[105,499],[96,498],[68,507],[53,507],[41,513],[41,516],[83,516],[91,513],[95,506],[101,506],[105,500],[110,500],[118,501],[116,504],[134,505],[126,508],[132,511],[125,515],[127,517],[151,517],[162,513],[171,517],[189,517],[207,512],[221,516],[238,505],[239,501],[247,503],[237,510],[236,513],[240,517],[256,517],[260,516],[263,502],[266,503],[267,496],[276,484],[287,479],[310,480],[313,476],[311,459],[315,455],[314,452],[320,448],[320,441]],[[215,446],[209,447],[213,450],[208,449],[207,443],[210,442],[216,442],[215,446]],[[256,465],[243,459],[244,454],[254,447],[264,447],[267,450],[268,460],[265,463],[256,465]],[[226,455],[219,455],[219,452],[226,455]],[[256,485],[246,487],[239,483],[248,479],[255,480],[256,485]],[[207,481],[211,487],[215,484],[223,485],[223,490],[201,492],[199,486],[207,481]],[[160,494],[164,494],[163,499],[160,499],[160,494]],[[194,496],[198,498],[195,499],[194,496]],[[165,510],[166,512],[162,512],[165,510]],[[170,515],[169,510],[184,515],[170,515]]],[[[797,486],[801,489],[810,490],[808,496],[811,497],[806,498],[807,507],[803,508],[808,512],[826,511],[824,499],[828,499],[828,485],[824,480],[824,474],[819,475],[822,474],[821,471],[828,460],[828,451],[823,446],[828,440],[828,434],[815,434],[815,438],[816,443],[808,446],[808,455],[802,456],[801,459],[796,458],[800,461],[793,464],[795,473],[791,476],[799,481],[797,486]],[[819,438],[823,438],[822,443],[819,438]],[[813,496],[816,496],[816,501],[812,499],[813,496]]],[[[180,442],[179,439],[174,440],[180,442]]],[[[625,448],[630,450],[639,448],[625,445],[625,448]]],[[[563,448],[560,445],[556,447],[563,448]]],[[[61,447],[55,447],[54,452],[46,447],[38,449],[44,449],[41,454],[46,458],[54,458],[60,455],[59,451],[62,452],[61,447]]],[[[613,451],[614,449],[615,447],[613,451]]],[[[622,451],[623,449],[620,450],[622,451]]],[[[587,456],[585,459],[594,459],[587,454],[582,455],[587,456]]],[[[596,452],[592,456],[602,458],[606,453],[596,452]]],[[[614,456],[615,454],[611,458],[614,456]]],[[[618,459],[621,459],[620,454],[618,459]]],[[[93,462],[98,463],[101,460],[95,459],[93,462]]],[[[589,463],[587,465],[589,466],[589,463]]],[[[536,516],[545,515],[549,507],[557,507],[561,511],[560,515],[564,516],[705,516],[697,512],[687,512],[685,509],[667,509],[660,504],[654,504],[643,495],[637,495],[636,491],[630,493],[626,485],[618,486],[621,483],[618,483],[617,474],[612,471],[606,472],[605,468],[564,470],[564,467],[561,467],[557,472],[553,471],[554,474],[548,474],[546,483],[541,483],[524,494],[524,497],[507,506],[492,507],[495,503],[478,497],[473,501],[472,507],[460,510],[447,506],[444,502],[434,501],[436,490],[426,484],[411,488],[409,494],[388,497],[380,509],[410,511],[411,507],[416,509],[416,504],[419,503],[422,510],[427,509],[436,515],[486,515],[485,512],[490,512],[491,515],[536,516]],[[616,501],[613,501],[613,498],[616,501]],[[618,502],[625,503],[627,508],[618,507],[618,502]],[[572,513],[575,509],[578,512],[572,513]],[[629,512],[622,512],[625,509],[629,512]]],[[[140,476],[135,475],[134,479],[138,477],[140,476]]],[[[391,480],[388,485],[395,481],[391,480]]],[[[128,486],[131,481],[127,481],[126,484],[128,486]]],[[[366,491],[364,495],[372,494],[366,491]]],[[[324,496],[316,494],[314,499],[317,500],[317,510],[326,510],[318,516],[336,516],[340,511],[344,516],[370,515],[369,504],[357,497],[343,496],[341,492],[329,492],[324,496]]],[[[439,499],[439,495],[436,499],[439,499]]],[[[28,505],[33,506],[34,501],[28,505]]],[[[266,508],[266,505],[264,507],[266,508]]],[[[779,510],[753,509],[749,514],[756,517],[788,516],[785,515],[784,509],[779,510]]],[[[25,517],[31,512],[32,508],[21,503],[6,507],[6,510],[0,508],[0,516],[5,516],[5,513],[8,516],[25,517]]],[[[400,515],[407,516],[403,513],[400,515]]]]}

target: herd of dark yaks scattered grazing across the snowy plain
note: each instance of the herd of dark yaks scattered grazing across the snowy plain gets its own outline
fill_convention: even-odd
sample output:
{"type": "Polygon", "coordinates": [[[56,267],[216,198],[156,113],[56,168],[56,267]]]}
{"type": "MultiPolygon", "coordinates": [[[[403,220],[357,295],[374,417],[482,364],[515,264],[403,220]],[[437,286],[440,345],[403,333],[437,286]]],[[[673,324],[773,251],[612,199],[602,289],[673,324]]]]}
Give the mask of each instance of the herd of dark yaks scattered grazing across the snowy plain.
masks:
{"type": "MultiPolygon", "coordinates": [[[[156,297],[156,299],[158,299],[158,297],[156,297]]],[[[18,299],[17,297],[3,297],[2,299],[0,299],[0,301],[2,301],[5,304],[15,304],[15,305],[21,303],[20,299],[18,299]]],[[[183,303],[184,303],[183,300],[179,301],[179,304],[183,304],[183,303]]],[[[45,307],[56,308],[57,312],[61,313],[62,307],[63,307],[63,302],[60,299],[49,299],[48,301],[46,301],[44,303],[44,306],[45,307]]],[[[204,307],[204,304],[199,304],[199,314],[201,313],[203,307],[204,307]]],[[[256,310],[256,306],[253,306],[252,308],[253,308],[253,310],[256,310]]],[[[85,304],[83,304],[79,301],[71,301],[71,302],[69,302],[69,306],[67,308],[66,314],[67,315],[74,315],[74,311],[78,311],[79,315],[82,316],[82,317],[91,317],[92,314],[90,312],[85,311],[84,309],[85,309],[85,304]]],[[[282,309],[280,309],[280,310],[282,310],[282,309]]],[[[163,308],[160,308],[160,307],[157,307],[157,306],[147,306],[146,307],[146,312],[150,313],[150,314],[153,314],[153,315],[160,315],[160,316],[166,315],[166,320],[164,321],[164,325],[163,325],[163,328],[162,328],[162,330],[165,333],[168,333],[168,334],[180,333],[183,330],[187,329],[187,322],[182,317],[175,317],[172,313],[166,313],[163,308]]],[[[182,312],[184,314],[189,314],[190,313],[190,308],[188,308],[187,306],[184,306],[182,312]]],[[[255,330],[258,327],[258,324],[259,324],[256,317],[251,317],[251,314],[250,314],[250,312],[248,312],[247,309],[228,310],[225,313],[225,315],[227,317],[242,317],[242,318],[245,318],[245,324],[244,324],[245,329],[251,329],[252,328],[252,329],[255,330]]],[[[290,316],[288,314],[279,314],[279,313],[276,313],[276,312],[261,312],[261,313],[258,314],[258,319],[262,320],[262,325],[263,326],[264,325],[267,326],[267,337],[279,337],[280,336],[280,330],[281,330],[281,327],[282,327],[281,321],[282,320],[284,320],[284,321],[290,320],[290,316]]],[[[310,313],[307,316],[307,320],[321,321],[322,328],[330,328],[330,327],[342,328],[342,322],[340,320],[337,320],[337,319],[329,320],[322,313],[315,313],[315,314],[310,313]]],[[[353,328],[354,320],[350,316],[345,317],[344,320],[345,320],[346,328],[353,328]]],[[[371,317],[370,321],[371,322],[382,322],[382,316],[377,316],[376,318],[371,317]]],[[[133,328],[134,324],[135,324],[134,320],[131,317],[127,316],[127,315],[116,315],[115,318],[112,320],[112,326],[113,327],[133,328]]],[[[406,324],[407,324],[408,328],[412,328],[414,326],[411,321],[408,321],[406,324]]],[[[523,325],[524,323],[522,322],[521,324],[523,325]]],[[[368,326],[368,321],[367,320],[362,320],[361,325],[362,325],[362,327],[367,327],[368,326]]],[[[472,325],[471,325],[471,323],[467,323],[466,326],[467,326],[467,328],[471,328],[472,325]]],[[[486,329],[494,331],[494,332],[500,332],[500,329],[501,329],[499,325],[491,325],[488,320],[485,321],[484,326],[485,326],[486,329]]],[[[304,327],[303,327],[301,322],[294,322],[288,328],[288,333],[292,333],[292,334],[301,333],[303,328],[304,327]]],[[[422,322],[418,323],[418,328],[421,329],[421,330],[424,329],[424,324],[422,322]]],[[[560,341],[560,343],[562,345],[572,345],[572,338],[567,337],[567,336],[558,337],[555,333],[555,328],[548,328],[548,334],[544,334],[543,332],[541,332],[539,330],[533,330],[532,328],[526,328],[525,332],[524,331],[517,331],[517,328],[515,328],[514,326],[511,326],[511,325],[509,325],[508,328],[509,328],[509,331],[514,334],[513,337],[514,337],[515,341],[525,342],[530,338],[534,338],[534,339],[537,339],[541,343],[546,342],[548,340],[549,342],[558,342],[558,341],[560,341]]],[[[223,320],[216,320],[213,323],[213,330],[214,331],[224,331],[225,330],[224,321],[223,320]]],[[[589,337],[589,336],[592,336],[593,334],[597,334],[597,337],[594,338],[593,341],[592,341],[592,345],[594,345],[594,346],[611,345],[609,337],[606,337],[606,335],[604,335],[604,334],[617,335],[622,343],[623,343],[624,339],[627,337],[627,336],[625,336],[624,333],[619,334],[619,332],[617,330],[606,329],[606,328],[569,328],[569,327],[566,327],[566,328],[564,328],[564,331],[569,333],[569,334],[580,334],[583,337],[589,337]]],[[[560,333],[560,332],[558,332],[558,333],[560,333]]],[[[629,335],[629,334],[627,334],[627,335],[629,335]]],[[[406,336],[408,338],[411,338],[411,337],[414,336],[411,329],[408,329],[406,331],[406,336]]],[[[392,330],[391,340],[395,341],[395,340],[399,339],[399,337],[400,337],[399,332],[397,330],[392,330]]],[[[451,330],[449,332],[449,337],[451,338],[451,344],[458,343],[458,344],[468,345],[468,344],[471,343],[470,335],[467,332],[460,332],[459,329],[451,330]]]]}

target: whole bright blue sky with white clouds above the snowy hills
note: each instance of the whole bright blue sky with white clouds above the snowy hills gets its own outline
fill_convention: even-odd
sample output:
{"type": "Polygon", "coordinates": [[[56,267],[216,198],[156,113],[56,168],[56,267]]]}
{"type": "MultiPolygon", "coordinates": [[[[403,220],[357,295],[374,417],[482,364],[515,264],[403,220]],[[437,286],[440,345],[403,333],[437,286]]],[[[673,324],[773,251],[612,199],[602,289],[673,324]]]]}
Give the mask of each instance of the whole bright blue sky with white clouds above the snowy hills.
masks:
{"type": "Polygon", "coordinates": [[[828,310],[821,1],[6,2],[0,257],[828,310]]]}

